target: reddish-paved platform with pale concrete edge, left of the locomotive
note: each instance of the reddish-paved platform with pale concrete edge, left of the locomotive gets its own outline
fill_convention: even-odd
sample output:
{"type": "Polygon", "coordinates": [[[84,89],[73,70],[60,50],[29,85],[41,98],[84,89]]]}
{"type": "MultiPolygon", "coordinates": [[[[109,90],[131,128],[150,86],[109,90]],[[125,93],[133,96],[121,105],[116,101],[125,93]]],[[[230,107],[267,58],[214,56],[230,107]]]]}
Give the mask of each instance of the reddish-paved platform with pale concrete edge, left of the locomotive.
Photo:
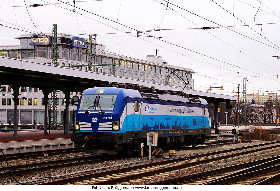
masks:
{"type": "Polygon", "coordinates": [[[63,135],[63,130],[51,130],[44,135],[44,130],[18,131],[19,138],[13,138],[14,131],[0,132],[0,150],[5,154],[25,153],[42,150],[73,148],[70,135],[63,135]]]}

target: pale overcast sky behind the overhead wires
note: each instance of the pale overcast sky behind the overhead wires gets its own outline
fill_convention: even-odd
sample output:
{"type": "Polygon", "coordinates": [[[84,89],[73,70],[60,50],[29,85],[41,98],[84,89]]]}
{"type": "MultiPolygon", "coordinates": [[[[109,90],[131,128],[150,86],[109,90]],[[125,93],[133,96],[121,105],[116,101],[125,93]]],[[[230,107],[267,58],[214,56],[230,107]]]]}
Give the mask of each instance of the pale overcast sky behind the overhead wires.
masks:
{"type": "MultiPolygon", "coordinates": [[[[243,77],[248,79],[247,93],[280,90],[280,59],[273,57],[280,56],[279,0],[170,0],[168,8],[167,0],[77,0],[75,14],[70,0],[63,2],[72,6],[57,0],[25,2],[37,29],[24,0],[1,1],[0,24],[4,26],[0,26],[0,46],[19,45],[19,40],[11,37],[27,33],[12,28],[52,33],[55,23],[59,33],[97,34],[97,42],[106,45],[107,51],[124,56],[146,59],[159,49],[158,56],[169,65],[196,72],[195,90],[207,91],[217,82],[224,89],[218,93],[233,95],[238,84],[243,88],[243,77]],[[43,6],[29,7],[32,4],[43,6]],[[197,29],[205,26],[219,28],[197,29]],[[137,38],[137,33],[101,35],[134,29],[160,29],[146,34],[162,38],[137,38]]],[[[215,88],[211,92],[215,93],[215,88]]]]}

